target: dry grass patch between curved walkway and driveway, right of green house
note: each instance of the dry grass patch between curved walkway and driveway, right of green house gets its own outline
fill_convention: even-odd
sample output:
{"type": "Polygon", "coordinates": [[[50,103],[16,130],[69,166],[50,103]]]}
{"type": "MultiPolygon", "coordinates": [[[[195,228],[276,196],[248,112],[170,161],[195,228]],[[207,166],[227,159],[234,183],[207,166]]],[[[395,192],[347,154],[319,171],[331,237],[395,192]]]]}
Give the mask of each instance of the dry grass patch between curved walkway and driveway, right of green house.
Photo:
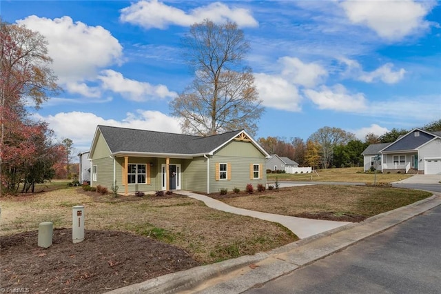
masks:
{"type": "Polygon", "coordinates": [[[280,215],[333,212],[371,217],[431,196],[420,190],[370,186],[311,185],[243,194],[223,202],[280,215]]]}

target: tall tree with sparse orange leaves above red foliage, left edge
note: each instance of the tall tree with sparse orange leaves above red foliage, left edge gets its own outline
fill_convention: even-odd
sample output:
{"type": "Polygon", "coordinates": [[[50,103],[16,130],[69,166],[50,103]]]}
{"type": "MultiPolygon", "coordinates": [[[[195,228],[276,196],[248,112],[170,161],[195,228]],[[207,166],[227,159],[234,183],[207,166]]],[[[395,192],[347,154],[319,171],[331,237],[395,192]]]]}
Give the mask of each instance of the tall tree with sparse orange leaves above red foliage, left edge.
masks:
{"type": "Polygon", "coordinates": [[[18,112],[23,111],[25,99],[32,99],[38,108],[48,99],[48,91],[59,90],[57,77],[50,68],[52,59],[48,56],[47,45],[38,32],[5,23],[0,18],[0,179],[6,117],[23,117],[23,113],[18,112]]]}

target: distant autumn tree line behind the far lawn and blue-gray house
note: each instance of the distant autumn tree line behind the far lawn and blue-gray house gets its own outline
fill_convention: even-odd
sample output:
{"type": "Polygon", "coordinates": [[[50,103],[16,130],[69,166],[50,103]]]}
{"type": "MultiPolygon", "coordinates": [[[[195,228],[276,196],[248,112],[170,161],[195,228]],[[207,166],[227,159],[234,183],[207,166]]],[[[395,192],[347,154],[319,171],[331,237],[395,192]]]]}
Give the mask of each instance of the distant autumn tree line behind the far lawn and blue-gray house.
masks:
{"type": "MultiPolygon", "coordinates": [[[[421,127],[431,132],[441,131],[441,119],[421,127]]],[[[341,128],[325,126],[313,133],[305,142],[300,137],[290,140],[283,137],[259,138],[258,143],[269,154],[288,157],[299,166],[313,168],[343,168],[363,165],[361,153],[370,144],[391,143],[410,130],[393,128],[383,135],[369,133],[365,140],[356,139],[353,133],[341,128]]]]}

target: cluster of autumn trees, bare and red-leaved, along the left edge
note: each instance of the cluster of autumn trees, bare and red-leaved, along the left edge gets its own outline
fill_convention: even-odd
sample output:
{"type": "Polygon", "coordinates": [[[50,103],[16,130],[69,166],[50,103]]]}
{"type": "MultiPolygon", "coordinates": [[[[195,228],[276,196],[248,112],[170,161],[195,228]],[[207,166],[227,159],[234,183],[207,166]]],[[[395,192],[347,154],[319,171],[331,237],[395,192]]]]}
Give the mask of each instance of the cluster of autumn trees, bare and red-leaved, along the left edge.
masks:
{"type": "Polygon", "coordinates": [[[61,90],[47,45],[39,33],[0,18],[0,196],[34,192],[72,158],[72,140],[55,141],[48,124],[27,110],[28,101],[38,109],[61,90]]]}

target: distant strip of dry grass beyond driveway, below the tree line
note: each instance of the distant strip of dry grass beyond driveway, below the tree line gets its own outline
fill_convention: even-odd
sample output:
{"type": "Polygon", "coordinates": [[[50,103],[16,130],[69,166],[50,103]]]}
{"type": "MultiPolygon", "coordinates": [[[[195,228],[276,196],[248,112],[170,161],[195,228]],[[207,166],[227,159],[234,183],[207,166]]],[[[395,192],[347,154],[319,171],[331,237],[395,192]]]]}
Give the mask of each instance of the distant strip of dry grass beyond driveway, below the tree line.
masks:
{"type": "MultiPolygon", "coordinates": [[[[297,182],[360,182],[372,184],[375,174],[363,173],[363,168],[327,168],[318,170],[316,173],[298,173],[298,174],[267,174],[268,182],[274,182],[276,177],[279,181],[297,181],[297,182]]],[[[391,183],[401,179],[407,179],[411,175],[377,173],[376,182],[391,183]]]]}

